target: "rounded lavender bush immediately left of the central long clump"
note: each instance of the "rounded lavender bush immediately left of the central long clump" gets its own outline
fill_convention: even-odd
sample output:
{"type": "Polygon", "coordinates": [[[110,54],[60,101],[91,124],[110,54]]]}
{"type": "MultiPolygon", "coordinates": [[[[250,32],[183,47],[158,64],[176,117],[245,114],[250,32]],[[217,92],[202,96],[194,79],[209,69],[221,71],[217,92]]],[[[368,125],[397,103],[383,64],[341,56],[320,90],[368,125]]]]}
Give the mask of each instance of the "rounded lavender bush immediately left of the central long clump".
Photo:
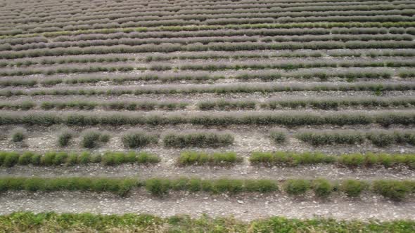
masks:
{"type": "Polygon", "coordinates": [[[158,135],[152,135],[143,131],[127,131],[122,135],[122,144],[128,148],[146,147],[150,144],[157,144],[158,135]]]}

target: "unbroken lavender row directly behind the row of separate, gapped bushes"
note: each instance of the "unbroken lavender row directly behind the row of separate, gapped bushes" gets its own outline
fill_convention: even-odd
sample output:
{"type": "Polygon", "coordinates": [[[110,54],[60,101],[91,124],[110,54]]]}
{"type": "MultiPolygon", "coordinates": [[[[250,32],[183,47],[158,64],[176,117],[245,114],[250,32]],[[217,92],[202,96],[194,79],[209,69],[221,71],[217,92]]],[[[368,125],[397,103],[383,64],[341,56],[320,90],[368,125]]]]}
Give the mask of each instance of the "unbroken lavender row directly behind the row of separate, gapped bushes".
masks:
{"type": "Polygon", "coordinates": [[[123,114],[107,112],[104,114],[58,112],[0,112],[0,125],[30,124],[51,126],[66,124],[72,126],[127,124],[195,124],[203,126],[227,126],[229,124],[259,124],[259,125],[356,125],[380,124],[415,124],[414,112],[342,112],[342,113],[307,113],[303,112],[260,112],[260,113],[211,113],[211,114],[123,114]]]}

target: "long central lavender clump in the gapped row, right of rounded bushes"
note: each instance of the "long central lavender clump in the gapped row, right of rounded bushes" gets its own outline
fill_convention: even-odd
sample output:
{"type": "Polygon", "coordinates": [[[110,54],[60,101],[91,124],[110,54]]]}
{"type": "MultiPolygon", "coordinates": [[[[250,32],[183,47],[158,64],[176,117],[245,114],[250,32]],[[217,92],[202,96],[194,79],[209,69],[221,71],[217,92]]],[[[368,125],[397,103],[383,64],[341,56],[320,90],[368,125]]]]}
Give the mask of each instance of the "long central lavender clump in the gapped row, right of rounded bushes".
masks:
{"type": "Polygon", "coordinates": [[[166,147],[224,147],[234,143],[234,136],[229,133],[168,133],[162,139],[166,147]]]}

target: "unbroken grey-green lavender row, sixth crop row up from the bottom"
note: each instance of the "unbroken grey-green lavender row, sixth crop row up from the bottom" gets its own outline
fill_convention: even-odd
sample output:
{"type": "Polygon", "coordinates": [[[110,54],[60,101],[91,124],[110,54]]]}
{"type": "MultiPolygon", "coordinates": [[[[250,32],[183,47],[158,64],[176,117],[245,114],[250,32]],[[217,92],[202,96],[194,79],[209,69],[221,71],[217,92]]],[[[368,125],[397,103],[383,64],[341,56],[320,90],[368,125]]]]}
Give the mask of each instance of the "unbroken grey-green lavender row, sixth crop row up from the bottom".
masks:
{"type": "Polygon", "coordinates": [[[359,82],[355,84],[221,84],[221,85],[187,85],[187,86],[151,86],[144,88],[39,88],[36,90],[3,89],[0,96],[13,95],[143,95],[143,94],[191,94],[191,93],[274,93],[295,91],[382,91],[415,90],[415,84],[359,82]]]}

